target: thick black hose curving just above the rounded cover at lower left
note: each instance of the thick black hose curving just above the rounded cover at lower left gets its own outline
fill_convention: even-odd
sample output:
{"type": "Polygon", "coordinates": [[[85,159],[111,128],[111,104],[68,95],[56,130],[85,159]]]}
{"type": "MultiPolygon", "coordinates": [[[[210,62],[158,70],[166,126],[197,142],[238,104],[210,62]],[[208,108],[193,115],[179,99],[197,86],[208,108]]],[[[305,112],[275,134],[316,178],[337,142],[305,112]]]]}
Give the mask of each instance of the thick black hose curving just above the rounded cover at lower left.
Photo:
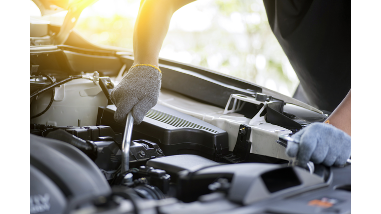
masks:
{"type": "Polygon", "coordinates": [[[83,153],[85,153],[91,160],[95,160],[98,157],[98,147],[94,143],[89,141],[85,141],[79,137],[76,137],[63,129],[57,129],[55,131],[51,131],[46,135],[47,138],[52,138],[60,141],[64,141],[69,143],[83,153]]]}

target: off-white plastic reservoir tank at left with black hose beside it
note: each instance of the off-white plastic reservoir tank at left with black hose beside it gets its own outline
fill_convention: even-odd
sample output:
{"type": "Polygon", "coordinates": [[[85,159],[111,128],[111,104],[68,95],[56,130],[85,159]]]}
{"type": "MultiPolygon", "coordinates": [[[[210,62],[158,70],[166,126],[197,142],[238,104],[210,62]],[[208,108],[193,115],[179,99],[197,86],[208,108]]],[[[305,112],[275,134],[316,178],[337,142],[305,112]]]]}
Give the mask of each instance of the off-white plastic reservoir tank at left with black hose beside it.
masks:
{"type": "MultiPolygon", "coordinates": [[[[51,97],[52,90],[37,96],[31,103],[30,116],[42,112],[51,97]]],[[[98,107],[107,106],[107,103],[107,97],[97,81],[74,79],[56,87],[52,106],[30,122],[54,126],[96,125],[98,107]]]]}

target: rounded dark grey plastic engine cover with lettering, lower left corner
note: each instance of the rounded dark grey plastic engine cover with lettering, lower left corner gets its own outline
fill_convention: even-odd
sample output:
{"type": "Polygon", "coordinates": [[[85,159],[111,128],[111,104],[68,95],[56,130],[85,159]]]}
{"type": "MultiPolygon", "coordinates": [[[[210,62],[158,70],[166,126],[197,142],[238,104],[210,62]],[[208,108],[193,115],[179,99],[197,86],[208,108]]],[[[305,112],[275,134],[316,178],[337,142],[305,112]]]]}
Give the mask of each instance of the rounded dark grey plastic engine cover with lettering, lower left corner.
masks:
{"type": "Polygon", "coordinates": [[[105,176],[84,153],[62,141],[33,134],[30,134],[30,174],[31,213],[41,209],[60,213],[65,199],[72,202],[111,193],[105,176]],[[32,210],[32,204],[44,206],[32,210]]]}

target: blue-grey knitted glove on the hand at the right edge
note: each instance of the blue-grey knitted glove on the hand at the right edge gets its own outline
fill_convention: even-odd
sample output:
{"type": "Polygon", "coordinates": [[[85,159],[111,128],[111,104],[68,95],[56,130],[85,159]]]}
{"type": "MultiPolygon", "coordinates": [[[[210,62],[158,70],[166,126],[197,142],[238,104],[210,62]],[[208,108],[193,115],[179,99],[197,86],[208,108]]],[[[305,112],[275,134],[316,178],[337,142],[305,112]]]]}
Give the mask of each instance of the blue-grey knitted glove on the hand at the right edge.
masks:
{"type": "Polygon", "coordinates": [[[351,157],[351,137],[327,123],[313,123],[292,138],[299,144],[288,141],[286,153],[296,157],[300,166],[306,166],[308,161],[339,166],[351,157]]]}

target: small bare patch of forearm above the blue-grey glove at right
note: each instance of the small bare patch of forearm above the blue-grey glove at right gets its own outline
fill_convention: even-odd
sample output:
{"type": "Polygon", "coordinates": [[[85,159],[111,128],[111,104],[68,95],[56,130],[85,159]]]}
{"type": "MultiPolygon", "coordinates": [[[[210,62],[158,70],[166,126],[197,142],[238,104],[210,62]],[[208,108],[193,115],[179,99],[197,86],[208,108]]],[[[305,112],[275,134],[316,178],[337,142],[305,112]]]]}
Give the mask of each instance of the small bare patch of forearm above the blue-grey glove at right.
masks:
{"type": "Polygon", "coordinates": [[[340,103],[338,107],[327,118],[329,124],[332,124],[338,129],[343,130],[349,136],[351,135],[351,90],[349,90],[347,96],[340,103]]]}

